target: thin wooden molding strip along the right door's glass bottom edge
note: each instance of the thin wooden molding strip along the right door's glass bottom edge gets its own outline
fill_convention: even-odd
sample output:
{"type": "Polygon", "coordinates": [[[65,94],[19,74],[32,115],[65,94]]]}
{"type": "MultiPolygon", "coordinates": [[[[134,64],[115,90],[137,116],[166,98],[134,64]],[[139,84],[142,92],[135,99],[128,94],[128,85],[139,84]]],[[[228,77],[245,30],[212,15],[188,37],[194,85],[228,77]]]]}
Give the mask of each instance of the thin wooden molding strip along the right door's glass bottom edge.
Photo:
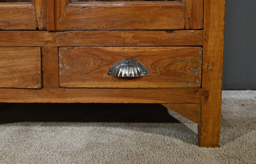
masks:
{"type": "Polygon", "coordinates": [[[69,3],[67,7],[180,7],[184,6],[179,1],[129,1],[129,2],[76,2],[69,3]]]}

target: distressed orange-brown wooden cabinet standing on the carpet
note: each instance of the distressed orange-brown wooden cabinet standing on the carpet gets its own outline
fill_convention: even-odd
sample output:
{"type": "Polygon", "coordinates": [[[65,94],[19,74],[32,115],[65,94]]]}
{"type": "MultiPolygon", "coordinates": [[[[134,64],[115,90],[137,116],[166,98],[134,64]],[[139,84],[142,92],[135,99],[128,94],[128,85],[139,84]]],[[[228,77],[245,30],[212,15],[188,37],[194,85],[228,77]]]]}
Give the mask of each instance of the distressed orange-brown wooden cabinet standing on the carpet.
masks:
{"type": "Polygon", "coordinates": [[[161,103],[218,147],[224,0],[1,0],[0,102],[161,103]]]}

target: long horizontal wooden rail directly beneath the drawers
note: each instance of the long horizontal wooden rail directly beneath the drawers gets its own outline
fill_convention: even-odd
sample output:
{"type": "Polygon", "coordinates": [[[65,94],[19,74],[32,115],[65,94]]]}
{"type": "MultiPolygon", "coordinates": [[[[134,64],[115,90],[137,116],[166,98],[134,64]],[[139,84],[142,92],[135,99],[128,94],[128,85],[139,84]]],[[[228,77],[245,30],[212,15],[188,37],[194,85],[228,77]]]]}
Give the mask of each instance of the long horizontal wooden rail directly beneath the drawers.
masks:
{"type": "Polygon", "coordinates": [[[201,88],[0,88],[0,102],[200,103],[201,88]]]}

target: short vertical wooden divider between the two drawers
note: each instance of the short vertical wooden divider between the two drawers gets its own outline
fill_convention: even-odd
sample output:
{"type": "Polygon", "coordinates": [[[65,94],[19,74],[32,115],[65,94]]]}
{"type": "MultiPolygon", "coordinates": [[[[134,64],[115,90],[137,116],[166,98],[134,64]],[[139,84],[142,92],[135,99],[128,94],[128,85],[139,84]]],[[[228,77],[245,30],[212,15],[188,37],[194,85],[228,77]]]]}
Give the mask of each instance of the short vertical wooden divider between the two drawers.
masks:
{"type": "Polygon", "coordinates": [[[44,88],[58,88],[58,47],[42,47],[44,88]]]}

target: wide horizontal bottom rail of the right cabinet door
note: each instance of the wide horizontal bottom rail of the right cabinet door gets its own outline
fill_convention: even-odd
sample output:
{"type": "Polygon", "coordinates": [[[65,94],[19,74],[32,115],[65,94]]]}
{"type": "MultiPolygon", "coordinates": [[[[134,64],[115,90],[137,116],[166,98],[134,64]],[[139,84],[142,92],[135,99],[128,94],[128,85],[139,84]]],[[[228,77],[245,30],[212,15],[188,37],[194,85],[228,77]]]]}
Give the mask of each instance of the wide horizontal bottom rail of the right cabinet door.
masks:
{"type": "Polygon", "coordinates": [[[69,7],[67,30],[184,29],[185,6],[69,7]]]}

